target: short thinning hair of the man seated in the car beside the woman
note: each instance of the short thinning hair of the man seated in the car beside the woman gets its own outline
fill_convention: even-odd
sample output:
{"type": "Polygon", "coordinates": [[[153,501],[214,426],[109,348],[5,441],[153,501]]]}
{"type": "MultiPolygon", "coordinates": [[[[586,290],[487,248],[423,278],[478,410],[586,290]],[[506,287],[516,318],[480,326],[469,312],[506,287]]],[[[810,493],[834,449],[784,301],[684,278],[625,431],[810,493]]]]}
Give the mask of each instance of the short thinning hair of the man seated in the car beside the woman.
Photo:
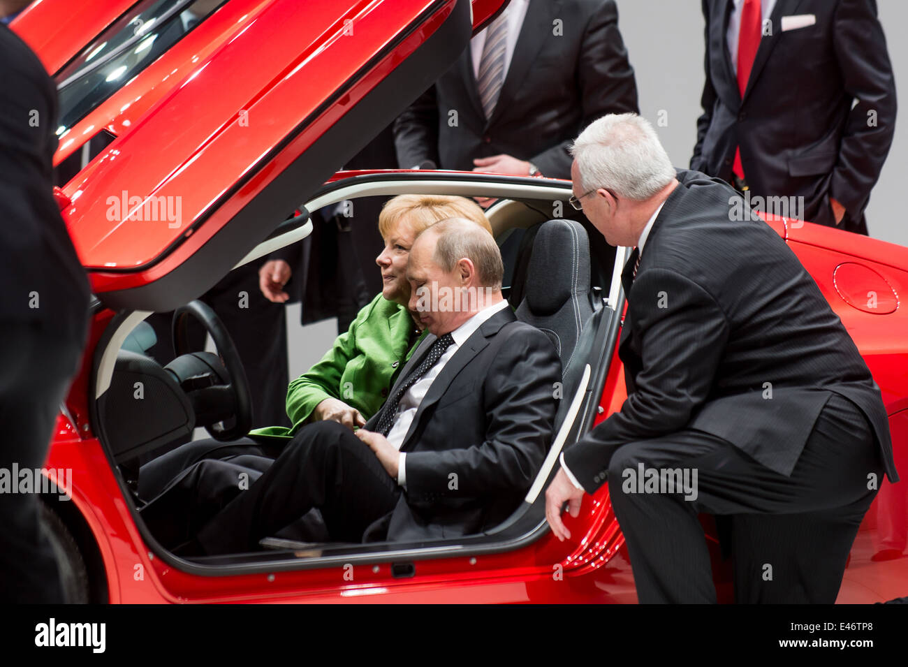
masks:
{"type": "Polygon", "coordinates": [[[501,289],[504,262],[498,243],[488,231],[465,218],[449,218],[436,222],[426,232],[436,236],[433,260],[442,270],[454,270],[459,260],[467,258],[476,267],[479,287],[501,289]]]}

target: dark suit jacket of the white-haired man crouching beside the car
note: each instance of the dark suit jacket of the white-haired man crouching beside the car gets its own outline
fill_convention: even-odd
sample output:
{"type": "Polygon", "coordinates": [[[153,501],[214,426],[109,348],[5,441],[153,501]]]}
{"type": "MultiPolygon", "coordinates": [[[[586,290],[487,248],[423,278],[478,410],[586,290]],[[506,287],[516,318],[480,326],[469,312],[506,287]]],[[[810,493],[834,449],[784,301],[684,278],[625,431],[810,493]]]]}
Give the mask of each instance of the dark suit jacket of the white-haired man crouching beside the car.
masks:
{"type": "Polygon", "coordinates": [[[627,401],[568,449],[568,469],[592,493],[615,447],[696,428],[788,476],[833,391],[864,412],[895,481],[880,390],[795,253],[759,219],[730,221],[724,182],[678,179],[637,279],[637,250],[622,275],[627,401]]]}

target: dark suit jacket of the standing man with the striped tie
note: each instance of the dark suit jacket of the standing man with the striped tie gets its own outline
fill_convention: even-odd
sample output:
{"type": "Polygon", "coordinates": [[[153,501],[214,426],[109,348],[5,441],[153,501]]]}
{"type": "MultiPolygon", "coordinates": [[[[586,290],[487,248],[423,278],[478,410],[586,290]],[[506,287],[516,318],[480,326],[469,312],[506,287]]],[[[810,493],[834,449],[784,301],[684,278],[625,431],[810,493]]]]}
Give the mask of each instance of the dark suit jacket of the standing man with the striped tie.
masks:
{"type": "Polygon", "coordinates": [[[474,158],[508,153],[570,178],[568,145],[587,124],[637,112],[617,18],[613,0],[531,0],[492,117],[482,111],[468,46],[394,123],[400,167],[431,161],[469,171],[474,158]]]}

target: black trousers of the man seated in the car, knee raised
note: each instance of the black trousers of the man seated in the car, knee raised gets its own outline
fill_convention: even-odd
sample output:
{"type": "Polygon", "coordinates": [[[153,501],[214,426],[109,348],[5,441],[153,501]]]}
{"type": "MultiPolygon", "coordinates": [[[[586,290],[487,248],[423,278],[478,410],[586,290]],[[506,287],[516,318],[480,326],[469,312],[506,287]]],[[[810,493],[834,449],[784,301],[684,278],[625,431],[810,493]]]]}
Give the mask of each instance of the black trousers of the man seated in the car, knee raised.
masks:
{"type": "Polygon", "coordinates": [[[390,513],[400,486],[349,428],[322,421],[301,429],[281,456],[197,535],[205,554],[258,549],[262,537],[318,507],[331,539],[360,542],[390,513]]]}

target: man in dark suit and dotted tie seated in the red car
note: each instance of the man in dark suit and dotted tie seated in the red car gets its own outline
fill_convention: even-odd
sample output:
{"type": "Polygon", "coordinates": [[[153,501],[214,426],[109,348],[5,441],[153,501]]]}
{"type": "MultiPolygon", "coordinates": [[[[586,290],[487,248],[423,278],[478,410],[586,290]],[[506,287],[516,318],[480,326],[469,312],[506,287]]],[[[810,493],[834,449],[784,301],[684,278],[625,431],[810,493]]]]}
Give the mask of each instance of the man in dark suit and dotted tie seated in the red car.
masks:
{"type": "Polygon", "coordinates": [[[410,309],[431,335],[388,401],[356,434],[334,422],[302,429],[183,554],[255,549],[313,506],[343,542],[456,537],[507,518],[551,442],[561,364],[502,299],[502,274],[498,245],[473,222],[420,234],[410,309]]]}

